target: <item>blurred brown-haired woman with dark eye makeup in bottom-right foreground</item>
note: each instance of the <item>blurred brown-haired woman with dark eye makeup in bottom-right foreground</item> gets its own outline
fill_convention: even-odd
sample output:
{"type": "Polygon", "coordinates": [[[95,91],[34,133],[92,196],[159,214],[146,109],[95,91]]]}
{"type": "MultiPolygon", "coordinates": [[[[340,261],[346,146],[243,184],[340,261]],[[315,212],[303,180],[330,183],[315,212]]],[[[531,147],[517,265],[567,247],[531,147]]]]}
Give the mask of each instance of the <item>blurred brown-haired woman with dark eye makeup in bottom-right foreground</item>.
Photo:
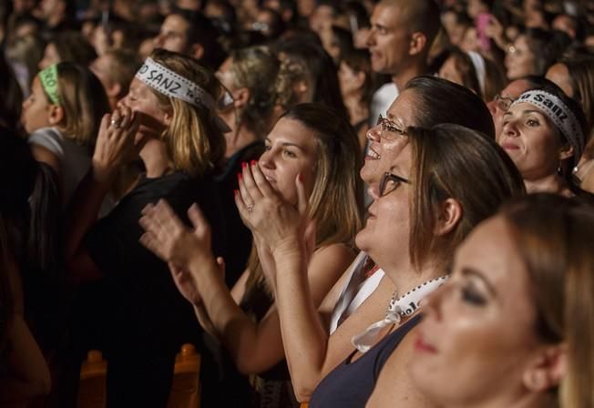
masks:
{"type": "Polygon", "coordinates": [[[531,194],[481,223],[428,299],[409,372],[445,408],[594,406],[594,213],[531,194]]]}

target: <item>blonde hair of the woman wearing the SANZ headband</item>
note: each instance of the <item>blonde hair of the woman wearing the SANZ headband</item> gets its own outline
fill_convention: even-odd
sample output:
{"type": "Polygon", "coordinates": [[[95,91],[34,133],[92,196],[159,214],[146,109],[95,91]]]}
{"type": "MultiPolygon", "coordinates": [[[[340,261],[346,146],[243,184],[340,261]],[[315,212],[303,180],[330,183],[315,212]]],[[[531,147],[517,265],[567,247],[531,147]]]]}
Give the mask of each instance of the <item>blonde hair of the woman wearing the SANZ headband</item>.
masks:
{"type": "MultiPolygon", "coordinates": [[[[219,100],[222,91],[219,80],[197,60],[164,49],[156,49],[150,57],[219,100]]],[[[173,168],[192,176],[201,176],[214,168],[225,154],[225,139],[215,122],[216,113],[208,107],[194,106],[149,89],[163,107],[173,110],[171,123],[161,135],[173,168]]]]}

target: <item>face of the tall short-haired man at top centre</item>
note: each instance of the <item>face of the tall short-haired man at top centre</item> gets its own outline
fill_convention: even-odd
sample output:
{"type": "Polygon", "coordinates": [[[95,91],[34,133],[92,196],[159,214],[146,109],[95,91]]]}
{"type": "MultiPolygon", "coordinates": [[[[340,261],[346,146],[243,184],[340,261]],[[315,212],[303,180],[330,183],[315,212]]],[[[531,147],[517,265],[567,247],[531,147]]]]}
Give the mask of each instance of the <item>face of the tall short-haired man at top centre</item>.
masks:
{"type": "Polygon", "coordinates": [[[398,5],[379,4],[371,17],[367,38],[372,68],[381,74],[395,75],[409,57],[410,34],[398,5]]]}

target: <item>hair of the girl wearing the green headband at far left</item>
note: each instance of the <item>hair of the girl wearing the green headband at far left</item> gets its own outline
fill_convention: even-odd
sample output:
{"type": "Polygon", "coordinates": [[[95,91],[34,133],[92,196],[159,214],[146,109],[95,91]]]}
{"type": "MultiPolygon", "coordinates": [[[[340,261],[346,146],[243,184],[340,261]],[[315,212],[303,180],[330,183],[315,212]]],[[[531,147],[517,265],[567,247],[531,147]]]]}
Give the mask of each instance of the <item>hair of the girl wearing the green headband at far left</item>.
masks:
{"type": "Polygon", "coordinates": [[[109,112],[101,81],[86,66],[61,62],[57,64],[57,83],[64,110],[58,128],[65,138],[92,152],[101,118],[109,112]]]}

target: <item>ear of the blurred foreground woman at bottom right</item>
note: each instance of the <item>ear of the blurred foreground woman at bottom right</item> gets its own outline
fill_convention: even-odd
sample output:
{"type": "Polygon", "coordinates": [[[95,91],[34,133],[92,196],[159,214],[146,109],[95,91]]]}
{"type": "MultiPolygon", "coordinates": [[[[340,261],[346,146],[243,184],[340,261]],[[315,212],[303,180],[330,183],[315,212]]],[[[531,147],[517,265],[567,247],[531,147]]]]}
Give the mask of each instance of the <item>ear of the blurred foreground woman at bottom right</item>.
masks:
{"type": "Polygon", "coordinates": [[[565,342],[545,345],[538,350],[534,359],[529,362],[522,382],[534,392],[543,393],[558,387],[568,368],[568,345],[565,342]]]}

